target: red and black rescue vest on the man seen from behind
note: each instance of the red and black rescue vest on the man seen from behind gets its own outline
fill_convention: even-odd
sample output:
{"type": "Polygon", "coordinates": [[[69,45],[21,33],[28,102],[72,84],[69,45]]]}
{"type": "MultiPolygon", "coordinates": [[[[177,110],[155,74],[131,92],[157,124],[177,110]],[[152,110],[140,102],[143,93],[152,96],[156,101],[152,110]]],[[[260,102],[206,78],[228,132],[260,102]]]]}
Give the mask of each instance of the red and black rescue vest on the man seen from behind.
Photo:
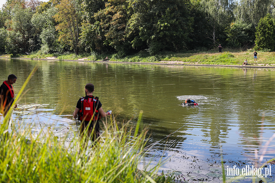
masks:
{"type": "Polygon", "coordinates": [[[87,97],[81,97],[81,109],[79,110],[78,120],[85,121],[97,121],[100,119],[98,115],[98,97],[89,95],[87,97]]]}

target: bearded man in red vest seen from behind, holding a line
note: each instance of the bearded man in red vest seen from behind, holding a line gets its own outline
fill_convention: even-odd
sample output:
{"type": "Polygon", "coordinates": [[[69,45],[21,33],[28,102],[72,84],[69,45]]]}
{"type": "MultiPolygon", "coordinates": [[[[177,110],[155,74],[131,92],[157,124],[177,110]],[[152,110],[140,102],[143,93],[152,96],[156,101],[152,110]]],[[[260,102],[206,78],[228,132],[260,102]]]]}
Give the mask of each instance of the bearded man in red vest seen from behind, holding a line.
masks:
{"type": "Polygon", "coordinates": [[[97,143],[96,141],[100,136],[99,119],[112,113],[112,111],[108,111],[107,113],[103,111],[101,102],[98,100],[98,97],[93,96],[93,92],[94,85],[92,83],[86,84],[86,96],[81,97],[78,100],[75,111],[73,113],[74,118],[76,118],[78,114],[79,120],[82,121],[80,126],[80,138],[84,138],[82,145],[83,150],[85,150],[84,152],[86,152],[89,138],[91,138],[91,141],[97,143]],[[86,129],[88,129],[87,134],[85,132],[86,129]],[[91,134],[93,129],[94,132],[91,134]]]}

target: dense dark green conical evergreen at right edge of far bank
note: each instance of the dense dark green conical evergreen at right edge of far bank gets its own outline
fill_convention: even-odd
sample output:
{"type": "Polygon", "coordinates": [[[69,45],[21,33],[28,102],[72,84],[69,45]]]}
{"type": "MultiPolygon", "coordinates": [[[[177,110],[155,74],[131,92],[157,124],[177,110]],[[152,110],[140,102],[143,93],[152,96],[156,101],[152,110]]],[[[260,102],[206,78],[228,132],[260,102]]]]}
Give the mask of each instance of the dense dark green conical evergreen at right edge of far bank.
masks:
{"type": "Polygon", "coordinates": [[[255,36],[255,49],[275,51],[275,24],[270,14],[260,19],[255,36]]]}

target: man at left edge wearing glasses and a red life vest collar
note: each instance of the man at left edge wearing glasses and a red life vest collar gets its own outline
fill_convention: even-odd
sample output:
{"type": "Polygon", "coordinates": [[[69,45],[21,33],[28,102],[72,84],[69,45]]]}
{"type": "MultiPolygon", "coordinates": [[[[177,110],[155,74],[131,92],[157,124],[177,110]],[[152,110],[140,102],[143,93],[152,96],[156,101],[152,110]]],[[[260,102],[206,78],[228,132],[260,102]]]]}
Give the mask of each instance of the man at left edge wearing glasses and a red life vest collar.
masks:
{"type": "MultiPolygon", "coordinates": [[[[14,99],[14,91],[12,84],[16,82],[17,77],[14,74],[8,76],[8,80],[4,81],[0,86],[0,113],[4,116],[9,111],[14,99]]],[[[17,107],[17,104],[14,108],[17,107]]]]}

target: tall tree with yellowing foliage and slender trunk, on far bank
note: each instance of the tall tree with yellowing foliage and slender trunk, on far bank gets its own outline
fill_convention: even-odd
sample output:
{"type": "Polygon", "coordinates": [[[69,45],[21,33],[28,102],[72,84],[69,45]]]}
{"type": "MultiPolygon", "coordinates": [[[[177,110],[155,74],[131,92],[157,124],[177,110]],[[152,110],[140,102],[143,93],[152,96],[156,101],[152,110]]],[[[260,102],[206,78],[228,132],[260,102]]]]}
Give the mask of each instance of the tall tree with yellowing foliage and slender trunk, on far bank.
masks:
{"type": "Polygon", "coordinates": [[[81,25],[80,5],[77,0],[61,0],[56,5],[57,14],[54,19],[59,23],[56,29],[59,31],[61,44],[73,48],[75,55],[79,54],[79,34],[81,25]]]}

